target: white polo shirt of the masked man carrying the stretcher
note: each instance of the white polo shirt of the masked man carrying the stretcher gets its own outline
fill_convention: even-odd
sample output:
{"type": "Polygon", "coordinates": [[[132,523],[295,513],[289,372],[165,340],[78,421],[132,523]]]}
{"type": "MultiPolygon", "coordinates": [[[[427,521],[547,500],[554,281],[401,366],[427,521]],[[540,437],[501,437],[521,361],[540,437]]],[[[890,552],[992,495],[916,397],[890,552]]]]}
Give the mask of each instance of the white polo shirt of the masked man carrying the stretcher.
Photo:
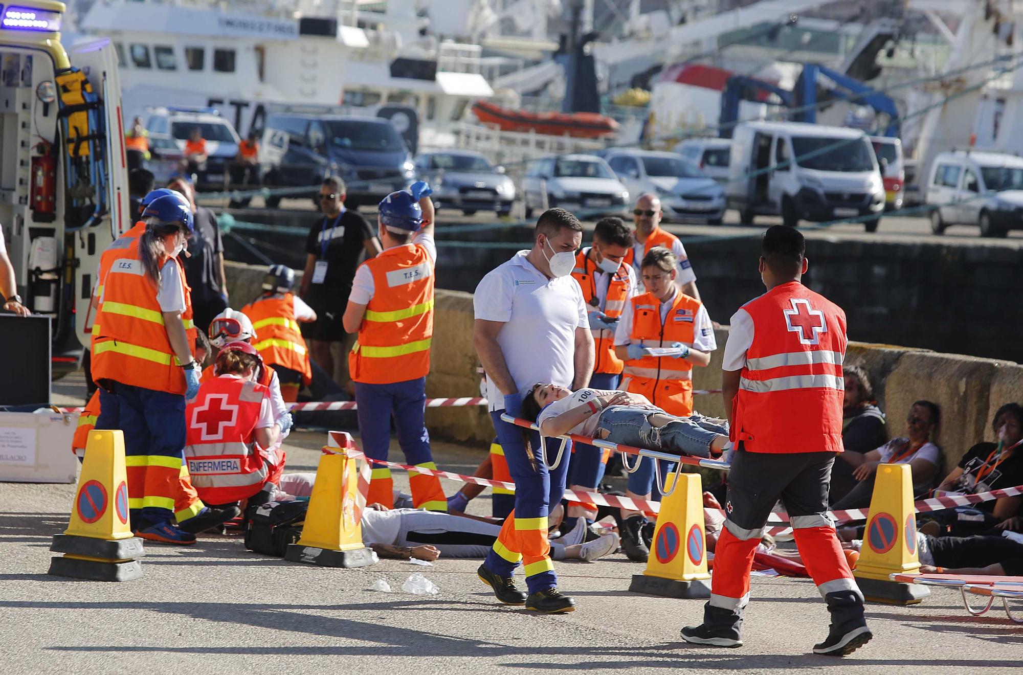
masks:
{"type": "MultiPolygon", "coordinates": [[[[477,319],[504,324],[497,344],[519,393],[536,382],[571,387],[575,331],[589,325],[582,290],[571,275],[548,279],[520,251],[476,286],[477,319]]],[[[504,395],[487,376],[490,410],[504,409],[504,395]]]]}

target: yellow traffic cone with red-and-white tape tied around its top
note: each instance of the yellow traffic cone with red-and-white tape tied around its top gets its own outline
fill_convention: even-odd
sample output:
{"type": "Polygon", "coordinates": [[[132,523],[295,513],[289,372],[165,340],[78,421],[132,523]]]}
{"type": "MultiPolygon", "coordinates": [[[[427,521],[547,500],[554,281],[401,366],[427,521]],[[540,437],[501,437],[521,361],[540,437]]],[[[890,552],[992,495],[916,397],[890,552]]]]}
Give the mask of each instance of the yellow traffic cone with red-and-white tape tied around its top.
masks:
{"type": "MultiPolygon", "coordinates": [[[[351,435],[344,432],[330,432],[327,445],[355,448],[351,435]]],[[[320,457],[302,537],[287,546],[284,557],[326,568],[362,568],[375,562],[372,551],[362,545],[358,489],[355,459],[345,454],[320,457]]]]}

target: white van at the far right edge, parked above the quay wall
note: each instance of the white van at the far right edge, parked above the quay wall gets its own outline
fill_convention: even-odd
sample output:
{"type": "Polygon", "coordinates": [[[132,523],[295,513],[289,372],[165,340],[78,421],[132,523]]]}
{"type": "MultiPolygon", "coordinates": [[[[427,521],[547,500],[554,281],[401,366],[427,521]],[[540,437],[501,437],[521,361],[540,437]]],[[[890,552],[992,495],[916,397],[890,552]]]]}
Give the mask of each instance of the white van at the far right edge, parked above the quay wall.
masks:
{"type": "Polygon", "coordinates": [[[996,237],[1023,229],[1023,159],[1015,154],[940,152],[926,190],[935,234],[949,225],[979,225],[981,236],[996,237]]]}

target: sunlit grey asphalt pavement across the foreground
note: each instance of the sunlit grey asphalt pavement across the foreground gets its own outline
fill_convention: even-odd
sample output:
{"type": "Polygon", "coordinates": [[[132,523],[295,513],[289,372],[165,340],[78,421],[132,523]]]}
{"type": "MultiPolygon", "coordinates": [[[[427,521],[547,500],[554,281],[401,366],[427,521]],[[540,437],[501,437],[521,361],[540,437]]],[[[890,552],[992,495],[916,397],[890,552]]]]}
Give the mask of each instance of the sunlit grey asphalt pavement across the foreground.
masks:
{"type": "MultiPolygon", "coordinates": [[[[58,405],[81,401],[80,380],[57,382],[58,405]]],[[[288,439],[288,470],[312,470],[322,432],[288,439]]],[[[471,471],[483,447],[434,444],[437,463],[471,471]]],[[[392,453],[400,457],[396,444],[392,453]]],[[[395,474],[396,487],[407,479],[395,474]]],[[[442,481],[450,494],[457,484],[442,481]]],[[[205,535],[191,547],[147,543],[145,576],[100,583],[46,574],[50,539],[66,527],[73,485],[0,484],[0,658],[5,673],[652,673],[728,670],[841,673],[998,672],[1019,669],[1023,627],[994,610],[970,617],[959,593],[935,589],[923,604],[870,604],[874,640],[846,659],[810,647],[828,613],[809,580],[753,580],[746,646],[688,645],[702,600],[628,591],[643,566],[621,553],[557,562],[569,615],[499,605],[476,577],[479,560],[433,567],[381,560],[324,569],[257,555],[239,536],[205,535]],[[400,590],[415,572],[437,595],[400,590]],[[385,579],[391,593],[369,591],[385,579]]],[[[489,493],[470,512],[488,514],[489,493]]]]}

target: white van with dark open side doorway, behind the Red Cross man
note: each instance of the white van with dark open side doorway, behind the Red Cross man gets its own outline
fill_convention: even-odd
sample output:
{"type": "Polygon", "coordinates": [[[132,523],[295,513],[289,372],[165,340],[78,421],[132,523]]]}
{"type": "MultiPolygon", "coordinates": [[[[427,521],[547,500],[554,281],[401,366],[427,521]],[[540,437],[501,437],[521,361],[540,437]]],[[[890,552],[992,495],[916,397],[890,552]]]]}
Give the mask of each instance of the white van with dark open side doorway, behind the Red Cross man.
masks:
{"type": "Polygon", "coordinates": [[[863,220],[878,229],[885,208],[874,148],[858,129],[799,122],[747,122],[731,139],[728,208],[751,224],[757,215],[782,216],[786,225],[800,220],[863,220]]]}

